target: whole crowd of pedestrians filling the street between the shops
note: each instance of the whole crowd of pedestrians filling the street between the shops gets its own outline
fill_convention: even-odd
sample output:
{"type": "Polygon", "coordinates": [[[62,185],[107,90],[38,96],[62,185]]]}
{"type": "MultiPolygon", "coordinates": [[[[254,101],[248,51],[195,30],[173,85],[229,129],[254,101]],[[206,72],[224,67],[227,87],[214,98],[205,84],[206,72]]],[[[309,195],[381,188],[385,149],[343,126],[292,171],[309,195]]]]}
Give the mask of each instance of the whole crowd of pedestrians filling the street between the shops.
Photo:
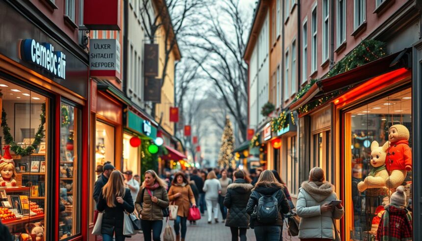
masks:
{"type": "MultiPolygon", "coordinates": [[[[124,213],[134,213],[141,220],[144,240],[160,241],[163,219],[169,215],[169,205],[177,206],[173,218],[176,241],[185,241],[187,218],[192,207],[199,206],[202,216],[208,214],[208,223],[225,222],[230,228],[232,241],[246,241],[246,231],[254,229],[257,241],[283,240],[283,223],[286,215],[296,208],[301,218],[301,241],[327,241],[337,239],[336,219],[343,216],[335,188],[325,181],[324,171],[313,168],[309,180],[298,191],[297,207],[289,190],[275,170],[233,171],[192,169],[184,172],[165,172],[161,177],[153,170],[139,175],[128,170],[121,173],[111,163],[103,166],[94,187],[97,212],[103,212],[101,234],[103,240],[124,241],[122,233],[124,213]],[[221,213],[222,220],[219,220],[221,213]]],[[[171,211],[170,211],[171,212],[171,211]]],[[[196,221],[190,220],[190,225],[196,221]]]]}

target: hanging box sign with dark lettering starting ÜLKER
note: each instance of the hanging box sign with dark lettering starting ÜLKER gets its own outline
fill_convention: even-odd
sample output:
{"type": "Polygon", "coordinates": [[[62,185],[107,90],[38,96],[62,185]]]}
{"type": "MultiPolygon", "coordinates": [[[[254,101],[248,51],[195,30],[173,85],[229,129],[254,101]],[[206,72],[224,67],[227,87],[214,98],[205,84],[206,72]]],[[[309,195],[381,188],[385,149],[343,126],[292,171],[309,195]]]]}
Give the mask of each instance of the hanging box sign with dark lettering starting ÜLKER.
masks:
{"type": "Polygon", "coordinates": [[[90,76],[120,80],[120,43],[117,39],[89,40],[90,76]]]}

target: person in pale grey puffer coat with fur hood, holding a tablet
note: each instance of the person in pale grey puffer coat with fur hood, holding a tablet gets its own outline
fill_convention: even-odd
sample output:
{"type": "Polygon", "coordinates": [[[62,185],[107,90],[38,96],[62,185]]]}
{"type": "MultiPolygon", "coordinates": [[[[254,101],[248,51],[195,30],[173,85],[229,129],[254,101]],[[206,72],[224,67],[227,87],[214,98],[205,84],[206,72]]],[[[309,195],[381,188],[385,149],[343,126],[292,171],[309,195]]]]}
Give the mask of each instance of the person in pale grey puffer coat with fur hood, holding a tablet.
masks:
{"type": "Polygon", "coordinates": [[[302,183],[296,203],[300,219],[299,239],[301,241],[332,241],[336,238],[335,219],[344,214],[342,204],[329,204],[337,200],[335,187],[325,181],[320,167],[309,172],[309,181],[302,183]]]}

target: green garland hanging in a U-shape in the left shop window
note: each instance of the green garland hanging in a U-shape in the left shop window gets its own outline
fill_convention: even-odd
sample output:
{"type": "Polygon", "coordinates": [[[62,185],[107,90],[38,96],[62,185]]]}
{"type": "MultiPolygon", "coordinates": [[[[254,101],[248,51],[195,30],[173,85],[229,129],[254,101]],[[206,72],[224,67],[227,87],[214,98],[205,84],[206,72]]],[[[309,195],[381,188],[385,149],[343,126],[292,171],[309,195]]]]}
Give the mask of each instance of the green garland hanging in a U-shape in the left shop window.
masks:
{"type": "Polygon", "coordinates": [[[16,155],[20,155],[22,157],[28,156],[32,154],[32,152],[37,148],[37,146],[41,143],[41,140],[45,137],[44,134],[44,124],[46,123],[46,104],[43,103],[41,106],[41,114],[40,114],[40,121],[41,124],[38,127],[37,133],[35,133],[35,139],[32,144],[30,144],[26,148],[22,148],[20,145],[17,145],[13,140],[12,134],[10,134],[10,127],[7,125],[7,114],[4,109],[1,111],[1,127],[3,128],[3,136],[4,142],[7,145],[10,145],[10,150],[12,150],[16,155]]]}

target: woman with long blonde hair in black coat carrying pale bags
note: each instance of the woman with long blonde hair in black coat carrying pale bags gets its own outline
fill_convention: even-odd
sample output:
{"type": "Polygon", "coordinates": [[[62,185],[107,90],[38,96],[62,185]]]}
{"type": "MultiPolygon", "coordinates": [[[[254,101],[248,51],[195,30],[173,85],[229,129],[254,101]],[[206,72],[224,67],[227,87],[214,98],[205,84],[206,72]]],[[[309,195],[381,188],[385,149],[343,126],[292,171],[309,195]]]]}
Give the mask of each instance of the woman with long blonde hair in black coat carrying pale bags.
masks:
{"type": "Polygon", "coordinates": [[[97,210],[103,212],[101,234],[103,241],[124,241],[123,220],[125,211],[132,213],[133,205],[131,190],[125,187],[123,174],[116,170],[111,172],[110,178],[104,185],[97,203],[97,210]]]}

